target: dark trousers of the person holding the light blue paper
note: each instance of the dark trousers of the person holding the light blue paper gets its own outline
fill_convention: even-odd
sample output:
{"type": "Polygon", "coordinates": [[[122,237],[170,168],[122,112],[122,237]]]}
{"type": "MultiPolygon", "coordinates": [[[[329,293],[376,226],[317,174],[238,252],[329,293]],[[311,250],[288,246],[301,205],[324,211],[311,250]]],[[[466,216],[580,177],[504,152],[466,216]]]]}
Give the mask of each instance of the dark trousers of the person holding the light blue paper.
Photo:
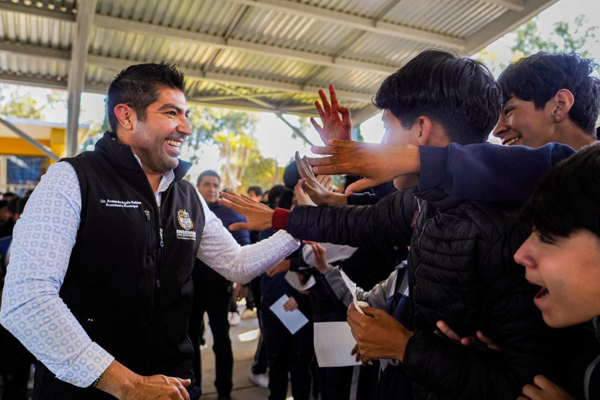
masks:
{"type": "Polygon", "coordinates": [[[294,400],[308,400],[310,395],[310,363],[313,359],[313,324],[308,323],[294,335],[269,309],[263,300],[262,323],[269,359],[269,400],[287,397],[287,374],[292,378],[294,400]]]}

